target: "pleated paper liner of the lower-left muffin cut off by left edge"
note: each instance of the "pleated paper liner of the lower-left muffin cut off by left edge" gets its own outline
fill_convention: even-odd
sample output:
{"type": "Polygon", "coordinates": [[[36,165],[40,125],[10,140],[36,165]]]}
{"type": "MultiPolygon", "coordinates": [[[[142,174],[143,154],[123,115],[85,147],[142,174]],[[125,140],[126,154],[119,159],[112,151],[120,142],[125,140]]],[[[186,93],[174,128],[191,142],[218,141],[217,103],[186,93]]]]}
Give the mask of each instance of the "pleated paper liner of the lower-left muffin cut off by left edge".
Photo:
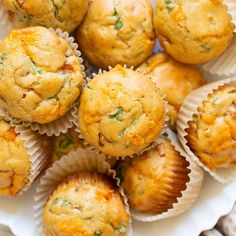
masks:
{"type": "MultiPolygon", "coordinates": [[[[1,111],[2,110],[0,109],[0,117],[3,117],[1,111]]],[[[17,194],[21,195],[29,189],[36,177],[46,166],[50,156],[50,143],[46,136],[40,136],[37,132],[24,127],[23,125],[10,125],[15,129],[15,132],[20,135],[20,139],[24,142],[24,147],[30,157],[30,175],[28,176],[26,185],[17,194]]]]}

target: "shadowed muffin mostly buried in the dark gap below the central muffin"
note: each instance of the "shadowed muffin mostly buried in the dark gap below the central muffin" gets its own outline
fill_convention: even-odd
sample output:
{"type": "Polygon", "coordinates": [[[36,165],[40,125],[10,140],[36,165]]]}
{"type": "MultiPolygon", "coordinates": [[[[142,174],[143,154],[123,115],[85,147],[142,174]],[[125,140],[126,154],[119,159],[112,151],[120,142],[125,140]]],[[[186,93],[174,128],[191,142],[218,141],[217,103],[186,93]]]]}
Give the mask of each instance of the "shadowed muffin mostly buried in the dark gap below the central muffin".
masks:
{"type": "MultiPolygon", "coordinates": [[[[75,151],[78,148],[85,148],[83,140],[79,138],[79,134],[75,131],[75,127],[68,130],[66,134],[60,134],[54,136],[53,140],[53,152],[50,164],[60,160],[62,156],[69,154],[71,151],[75,151]]],[[[107,159],[111,167],[116,164],[115,158],[107,159]]]]}

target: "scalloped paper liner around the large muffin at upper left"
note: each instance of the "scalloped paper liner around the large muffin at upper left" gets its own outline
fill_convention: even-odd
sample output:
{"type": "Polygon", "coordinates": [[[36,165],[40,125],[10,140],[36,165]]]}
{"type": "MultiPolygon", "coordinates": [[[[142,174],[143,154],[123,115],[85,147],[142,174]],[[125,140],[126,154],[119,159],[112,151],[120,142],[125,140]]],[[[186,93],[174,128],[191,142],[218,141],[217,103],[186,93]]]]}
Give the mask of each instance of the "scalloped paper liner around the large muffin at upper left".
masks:
{"type": "MultiPolygon", "coordinates": [[[[85,68],[83,65],[83,59],[81,57],[81,52],[77,49],[78,45],[76,43],[74,43],[74,38],[70,37],[69,34],[67,32],[62,32],[61,29],[50,29],[52,32],[55,32],[57,34],[57,36],[63,38],[71,47],[71,49],[74,51],[75,55],[78,57],[80,65],[81,65],[81,71],[83,73],[84,78],[86,77],[85,75],[85,68]]],[[[86,84],[86,80],[84,79],[83,81],[83,85],[86,84]]],[[[66,133],[68,131],[69,128],[72,128],[73,123],[75,123],[74,116],[73,116],[73,112],[75,112],[77,110],[78,107],[78,103],[75,102],[75,104],[72,106],[72,108],[62,117],[60,117],[59,119],[47,123],[47,124],[39,124],[36,122],[28,122],[28,121],[22,121],[18,118],[14,118],[12,116],[10,116],[7,111],[5,111],[5,116],[7,117],[8,120],[11,121],[12,124],[16,125],[16,124],[22,124],[25,127],[29,127],[31,128],[33,131],[38,131],[40,134],[46,134],[47,136],[52,136],[52,135],[56,135],[59,136],[60,133],[66,133]]]]}

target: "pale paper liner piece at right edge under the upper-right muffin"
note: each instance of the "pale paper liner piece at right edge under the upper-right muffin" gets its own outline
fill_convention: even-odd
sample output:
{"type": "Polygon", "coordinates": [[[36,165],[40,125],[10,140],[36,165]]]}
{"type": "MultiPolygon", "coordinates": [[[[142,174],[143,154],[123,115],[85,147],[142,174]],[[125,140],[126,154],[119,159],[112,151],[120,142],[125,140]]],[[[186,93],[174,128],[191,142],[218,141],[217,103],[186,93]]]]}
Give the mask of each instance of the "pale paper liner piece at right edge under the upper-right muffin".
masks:
{"type": "Polygon", "coordinates": [[[234,34],[231,45],[221,56],[203,64],[201,68],[212,75],[222,77],[236,75],[236,35],[234,34]]]}

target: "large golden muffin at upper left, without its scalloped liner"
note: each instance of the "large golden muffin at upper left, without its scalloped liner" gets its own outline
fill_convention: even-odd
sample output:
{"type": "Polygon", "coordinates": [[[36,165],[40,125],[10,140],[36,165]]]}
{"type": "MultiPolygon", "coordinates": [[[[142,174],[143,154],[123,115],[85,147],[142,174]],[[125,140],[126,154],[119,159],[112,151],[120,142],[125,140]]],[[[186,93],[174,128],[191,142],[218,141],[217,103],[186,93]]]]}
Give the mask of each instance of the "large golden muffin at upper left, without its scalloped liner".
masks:
{"type": "Polygon", "coordinates": [[[59,119],[77,100],[82,81],[73,50],[44,27],[13,30],[0,43],[0,106],[14,118],[59,119]]]}

